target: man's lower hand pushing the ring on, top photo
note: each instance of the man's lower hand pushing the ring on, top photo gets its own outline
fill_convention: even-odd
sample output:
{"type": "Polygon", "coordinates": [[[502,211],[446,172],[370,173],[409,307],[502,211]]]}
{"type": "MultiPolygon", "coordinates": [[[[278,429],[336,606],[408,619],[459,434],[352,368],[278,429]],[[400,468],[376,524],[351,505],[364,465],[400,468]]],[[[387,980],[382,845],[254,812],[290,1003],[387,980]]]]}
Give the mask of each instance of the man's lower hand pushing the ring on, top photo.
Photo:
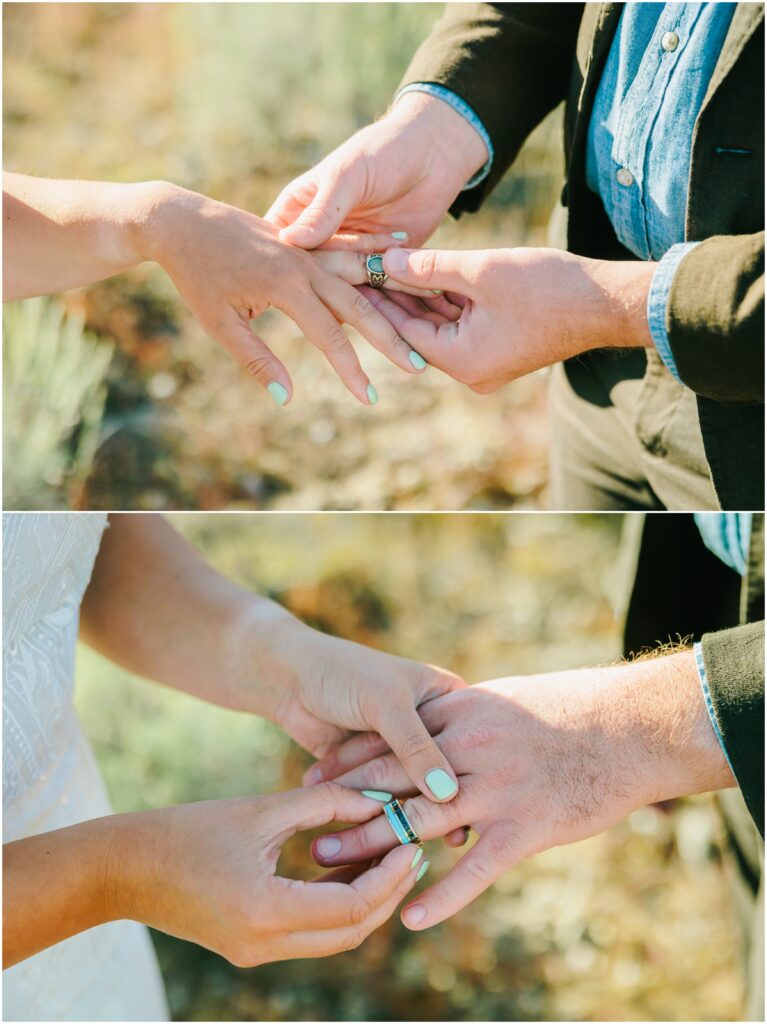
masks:
{"type": "Polygon", "coordinates": [[[456,319],[363,289],[427,362],[481,394],[591,348],[652,344],[645,310],[653,263],[556,249],[392,249],[384,269],[463,306],[456,319]]]}

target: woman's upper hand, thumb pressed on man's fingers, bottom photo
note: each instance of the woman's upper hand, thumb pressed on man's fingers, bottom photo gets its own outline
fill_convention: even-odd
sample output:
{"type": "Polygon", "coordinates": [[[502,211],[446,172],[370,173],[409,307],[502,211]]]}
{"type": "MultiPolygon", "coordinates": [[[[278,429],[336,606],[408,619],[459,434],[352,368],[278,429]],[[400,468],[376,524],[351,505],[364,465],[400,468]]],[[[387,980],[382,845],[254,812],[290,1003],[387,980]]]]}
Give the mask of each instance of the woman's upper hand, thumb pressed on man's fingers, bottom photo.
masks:
{"type": "MultiPolygon", "coordinates": [[[[233,674],[241,683],[229,699],[235,707],[270,718],[304,750],[324,759],[322,766],[310,769],[307,781],[337,773],[334,752],[351,732],[370,738],[370,730],[375,730],[385,737],[415,788],[432,801],[455,797],[456,773],[419,710],[465,688],[459,676],[328,636],[287,612],[264,618],[261,602],[254,605],[253,615],[252,630],[244,625],[247,618],[241,623],[242,668],[233,674]]],[[[365,739],[357,742],[364,745],[365,739]]]]}

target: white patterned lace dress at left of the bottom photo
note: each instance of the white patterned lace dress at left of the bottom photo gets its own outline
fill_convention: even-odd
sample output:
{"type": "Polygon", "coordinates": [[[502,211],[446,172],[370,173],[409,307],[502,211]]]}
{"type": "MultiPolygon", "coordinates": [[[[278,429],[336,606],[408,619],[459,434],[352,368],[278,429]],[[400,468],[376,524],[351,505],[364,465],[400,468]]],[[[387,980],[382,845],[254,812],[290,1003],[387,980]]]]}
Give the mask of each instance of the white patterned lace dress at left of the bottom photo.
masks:
{"type": "MultiPolygon", "coordinates": [[[[98,513],[3,516],[5,843],[112,813],[72,702],[80,602],[105,526],[98,513]]],[[[9,968],[3,1019],[167,1020],[146,929],[113,922],[9,968]]]]}

